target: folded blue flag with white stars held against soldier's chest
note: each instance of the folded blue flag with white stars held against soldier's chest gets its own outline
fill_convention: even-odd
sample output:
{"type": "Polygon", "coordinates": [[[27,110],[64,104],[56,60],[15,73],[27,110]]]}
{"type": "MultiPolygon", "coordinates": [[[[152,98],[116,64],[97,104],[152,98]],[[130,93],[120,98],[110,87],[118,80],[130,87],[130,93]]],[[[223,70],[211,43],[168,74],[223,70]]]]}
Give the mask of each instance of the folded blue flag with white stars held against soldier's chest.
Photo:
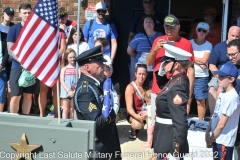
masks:
{"type": "Polygon", "coordinates": [[[112,98],[111,98],[111,90],[112,90],[112,80],[111,78],[107,78],[103,83],[103,108],[102,114],[105,118],[107,118],[112,110],[112,98]]]}

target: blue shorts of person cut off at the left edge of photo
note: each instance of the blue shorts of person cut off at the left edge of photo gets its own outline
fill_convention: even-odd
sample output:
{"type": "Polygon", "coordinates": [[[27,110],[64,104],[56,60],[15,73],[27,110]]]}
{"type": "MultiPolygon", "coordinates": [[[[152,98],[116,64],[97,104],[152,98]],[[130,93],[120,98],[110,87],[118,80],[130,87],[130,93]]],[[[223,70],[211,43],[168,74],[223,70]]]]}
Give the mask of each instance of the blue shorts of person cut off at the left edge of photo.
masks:
{"type": "Polygon", "coordinates": [[[6,102],[7,74],[5,70],[0,72],[0,103],[6,102]]]}

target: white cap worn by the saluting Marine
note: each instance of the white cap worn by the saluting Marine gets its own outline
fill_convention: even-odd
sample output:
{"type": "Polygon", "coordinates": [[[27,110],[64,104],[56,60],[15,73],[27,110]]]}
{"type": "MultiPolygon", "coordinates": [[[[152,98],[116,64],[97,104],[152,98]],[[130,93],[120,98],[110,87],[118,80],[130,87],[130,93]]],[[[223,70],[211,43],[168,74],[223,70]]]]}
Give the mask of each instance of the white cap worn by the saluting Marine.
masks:
{"type": "Polygon", "coordinates": [[[169,44],[164,44],[163,48],[165,49],[166,57],[175,58],[177,61],[188,60],[189,57],[192,57],[191,53],[169,44]]]}

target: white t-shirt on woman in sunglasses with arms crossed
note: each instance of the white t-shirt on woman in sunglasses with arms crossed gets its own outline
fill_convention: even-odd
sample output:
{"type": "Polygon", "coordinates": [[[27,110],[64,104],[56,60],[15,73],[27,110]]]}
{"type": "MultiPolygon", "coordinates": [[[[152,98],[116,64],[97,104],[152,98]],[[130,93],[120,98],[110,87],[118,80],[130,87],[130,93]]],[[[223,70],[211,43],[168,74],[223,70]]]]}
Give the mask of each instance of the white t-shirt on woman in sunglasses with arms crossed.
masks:
{"type": "MultiPolygon", "coordinates": [[[[198,45],[194,42],[194,39],[191,39],[190,42],[192,43],[193,47],[193,52],[194,52],[194,57],[197,58],[203,58],[205,52],[211,52],[212,50],[212,44],[208,41],[203,43],[202,45],[198,45]]],[[[206,64],[208,66],[208,63],[206,64]]],[[[208,77],[208,69],[202,69],[200,66],[197,64],[194,64],[194,69],[195,69],[195,77],[208,77]]]]}

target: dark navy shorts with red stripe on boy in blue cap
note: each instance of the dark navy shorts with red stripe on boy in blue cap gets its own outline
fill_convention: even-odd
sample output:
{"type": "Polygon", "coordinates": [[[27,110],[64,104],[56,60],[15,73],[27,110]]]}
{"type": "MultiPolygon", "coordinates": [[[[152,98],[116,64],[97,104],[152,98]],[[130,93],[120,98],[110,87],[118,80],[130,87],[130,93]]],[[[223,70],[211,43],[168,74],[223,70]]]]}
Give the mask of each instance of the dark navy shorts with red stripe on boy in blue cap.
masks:
{"type": "Polygon", "coordinates": [[[226,147],[222,144],[213,143],[214,160],[232,160],[234,147],[226,147]]]}

